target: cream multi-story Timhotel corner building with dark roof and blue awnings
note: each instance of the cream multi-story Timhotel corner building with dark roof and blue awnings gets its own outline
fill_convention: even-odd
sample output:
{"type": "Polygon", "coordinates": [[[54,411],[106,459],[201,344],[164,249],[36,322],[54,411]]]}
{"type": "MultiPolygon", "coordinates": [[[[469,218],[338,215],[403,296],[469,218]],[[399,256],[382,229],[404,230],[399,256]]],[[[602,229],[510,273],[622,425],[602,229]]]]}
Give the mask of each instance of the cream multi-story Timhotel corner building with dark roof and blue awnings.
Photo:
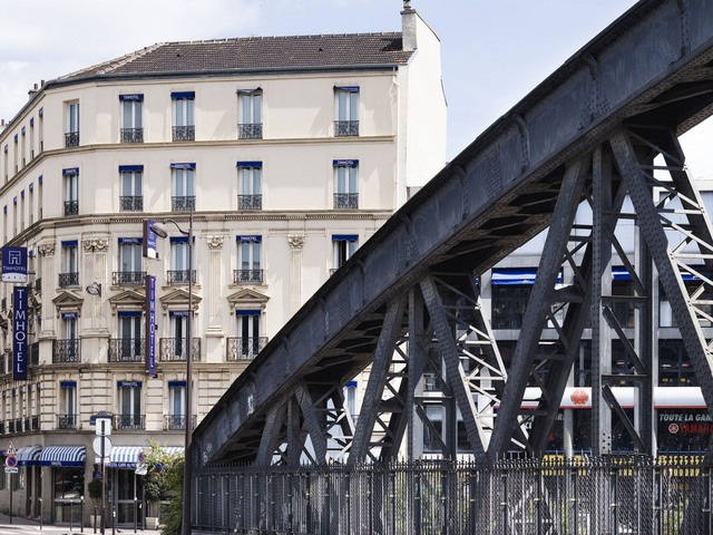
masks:
{"type": "MultiPolygon", "coordinates": [[[[0,507],[75,522],[113,415],[108,497],[133,524],[138,453],[180,447],[301,304],[445,163],[440,43],[400,32],[159,43],[43,81],[0,132],[0,236],[28,247],[30,366],[2,284],[0,507]],[[408,150],[407,150],[408,147],[408,150]],[[179,228],[143,254],[148,220],[179,228]],[[157,374],[145,372],[156,275],[157,374]],[[188,288],[193,332],[186,339],[188,288]],[[186,399],[186,360],[193,392],[186,399]]],[[[146,510],[144,508],[144,510],[146,510]]]]}

